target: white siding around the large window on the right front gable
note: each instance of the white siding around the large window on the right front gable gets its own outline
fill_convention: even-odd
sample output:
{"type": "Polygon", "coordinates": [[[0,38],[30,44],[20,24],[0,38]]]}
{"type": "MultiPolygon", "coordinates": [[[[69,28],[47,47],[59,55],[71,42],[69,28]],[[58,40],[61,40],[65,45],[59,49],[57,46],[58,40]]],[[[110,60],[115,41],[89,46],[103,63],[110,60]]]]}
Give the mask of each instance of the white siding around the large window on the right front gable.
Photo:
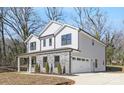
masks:
{"type": "Polygon", "coordinates": [[[56,48],[65,48],[65,47],[69,47],[69,48],[73,48],[73,49],[78,49],[78,31],[74,30],[70,27],[65,27],[56,37],[56,48]],[[71,37],[72,37],[72,44],[71,45],[61,45],[61,36],[62,35],[66,35],[66,34],[70,34],[71,33],[71,37]]]}

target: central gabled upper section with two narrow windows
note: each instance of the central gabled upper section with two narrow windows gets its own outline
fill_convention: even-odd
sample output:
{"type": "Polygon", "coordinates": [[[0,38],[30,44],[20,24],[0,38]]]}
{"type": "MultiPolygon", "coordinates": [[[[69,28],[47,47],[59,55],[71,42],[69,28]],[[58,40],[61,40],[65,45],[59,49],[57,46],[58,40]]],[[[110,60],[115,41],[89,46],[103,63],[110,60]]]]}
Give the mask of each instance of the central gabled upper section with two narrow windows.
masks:
{"type": "Polygon", "coordinates": [[[55,33],[63,27],[63,24],[56,21],[50,21],[48,25],[40,33],[41,51],[55,48],[55,33]]]}

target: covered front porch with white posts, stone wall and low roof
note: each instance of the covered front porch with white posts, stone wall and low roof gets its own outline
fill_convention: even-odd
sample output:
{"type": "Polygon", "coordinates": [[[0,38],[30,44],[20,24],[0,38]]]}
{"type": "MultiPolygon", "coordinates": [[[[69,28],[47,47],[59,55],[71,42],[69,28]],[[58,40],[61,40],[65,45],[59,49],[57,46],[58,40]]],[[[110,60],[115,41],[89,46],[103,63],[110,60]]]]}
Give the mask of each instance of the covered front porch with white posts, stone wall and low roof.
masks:
{"type": "Polygon", "coordinates": [[[72,49],[53,49],[42,52],[24,53],[18,56],[18,72],[21,71],[21,59],[27,62],[27,72],[35,71],[35,64],[40,65],[40,72],[46,72],[45,64],[48,63],[52,73],[58,73],[57,64],[60,64],[62,69],[65,68],[66,73],[71,73],[71,53],[72,49]]]}

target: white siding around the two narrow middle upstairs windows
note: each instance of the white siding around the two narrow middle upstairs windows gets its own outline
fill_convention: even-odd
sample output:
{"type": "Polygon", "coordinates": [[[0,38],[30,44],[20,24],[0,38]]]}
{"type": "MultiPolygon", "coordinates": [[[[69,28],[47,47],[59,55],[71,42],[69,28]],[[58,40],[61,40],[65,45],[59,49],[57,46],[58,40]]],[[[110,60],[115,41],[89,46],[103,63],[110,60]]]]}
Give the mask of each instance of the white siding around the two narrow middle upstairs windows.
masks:
{"type": "Polygon", "coordinates": [[[54,37],[46,38],[46,46],[43,46],[43,40],[41,40],[41,51],[54,49],[54,37]],[[52,46],[49,46],[49,39],[52,39],[52,46]]]}

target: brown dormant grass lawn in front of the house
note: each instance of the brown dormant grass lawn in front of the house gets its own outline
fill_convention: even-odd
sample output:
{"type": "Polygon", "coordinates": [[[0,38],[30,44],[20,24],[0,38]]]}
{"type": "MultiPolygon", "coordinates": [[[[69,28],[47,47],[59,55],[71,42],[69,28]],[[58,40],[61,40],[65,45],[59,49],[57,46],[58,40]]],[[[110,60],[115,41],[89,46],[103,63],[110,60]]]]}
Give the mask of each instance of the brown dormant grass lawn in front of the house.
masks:
{"type": "Polygon", "coordinates": [[[15,72],[0,73],[0,85],[70,85],[73,83],[73,80],[62,77],[28,75],[15,72]]]}

